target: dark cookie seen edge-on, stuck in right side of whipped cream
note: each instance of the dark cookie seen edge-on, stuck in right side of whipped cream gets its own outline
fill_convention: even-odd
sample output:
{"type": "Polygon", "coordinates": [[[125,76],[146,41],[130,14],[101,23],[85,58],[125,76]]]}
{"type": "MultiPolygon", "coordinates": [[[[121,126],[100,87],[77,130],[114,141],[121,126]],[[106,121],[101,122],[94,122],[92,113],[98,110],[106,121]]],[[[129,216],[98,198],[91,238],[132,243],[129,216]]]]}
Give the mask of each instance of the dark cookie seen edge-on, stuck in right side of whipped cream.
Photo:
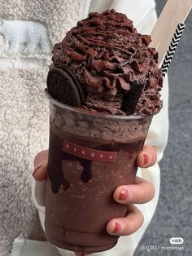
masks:
{"type": "Polygon", "coordinates": [[[142,94],[142,89],[144,88],[146,82],[143,80],[137,80],[131,83],[129,92],[124,95],[124,100],[122,104],[122,110],[127,115],[132,115],[138,103],[138,99],[142,94]]]}

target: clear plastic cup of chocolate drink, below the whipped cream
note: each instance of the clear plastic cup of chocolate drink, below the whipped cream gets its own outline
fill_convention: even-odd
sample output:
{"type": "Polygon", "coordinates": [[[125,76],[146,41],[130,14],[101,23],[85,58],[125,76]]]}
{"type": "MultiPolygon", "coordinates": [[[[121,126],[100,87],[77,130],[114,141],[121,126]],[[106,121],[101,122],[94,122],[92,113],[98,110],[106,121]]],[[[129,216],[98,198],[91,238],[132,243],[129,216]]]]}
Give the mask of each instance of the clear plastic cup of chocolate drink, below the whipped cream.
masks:
{"type": "Polygon", "coordinates": [[[118,236],[108,235],[106,225],[124,217],[127,207],[113,200],[113,192],[134,182],[151,118],[90,115],[51,99],[48,241],[87,253],[116,245],[118,236]]]}

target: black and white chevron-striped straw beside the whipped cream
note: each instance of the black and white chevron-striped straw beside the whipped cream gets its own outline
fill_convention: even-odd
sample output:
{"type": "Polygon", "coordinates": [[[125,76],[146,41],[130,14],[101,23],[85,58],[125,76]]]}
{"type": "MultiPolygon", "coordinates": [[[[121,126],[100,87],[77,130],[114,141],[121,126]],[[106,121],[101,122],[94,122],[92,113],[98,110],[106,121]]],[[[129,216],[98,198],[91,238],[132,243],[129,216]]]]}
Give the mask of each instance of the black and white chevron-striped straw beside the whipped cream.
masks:
{"type": "Polygon", "coordinates": [[[185,24],[179,23],[177,25],[176,32],[173,35],[172,42],[168,47],[168,51],[164,57],[164,62],[161,66],[164,77],[165,77],[165,74],[168,72],[168,67],[172,62],[172,57],[177,49],[178,43],[180,42],[181,35],[184,29],[185,29],[185,24]]]}

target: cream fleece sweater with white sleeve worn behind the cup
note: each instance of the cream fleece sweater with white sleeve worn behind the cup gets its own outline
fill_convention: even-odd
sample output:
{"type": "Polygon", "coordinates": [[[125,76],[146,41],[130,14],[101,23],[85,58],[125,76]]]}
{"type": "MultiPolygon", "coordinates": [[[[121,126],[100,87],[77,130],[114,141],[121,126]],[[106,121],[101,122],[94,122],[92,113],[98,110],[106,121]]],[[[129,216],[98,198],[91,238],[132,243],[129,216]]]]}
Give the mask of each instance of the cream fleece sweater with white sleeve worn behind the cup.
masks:
{"type": "MultiPolygon", "coordinates": [[[[46,74],[55,42],[63,39],[77,20],[89,11],[114,8],[125,13],[140,33],[151,33],[156,20],[153,0],[55,0],[0,2],[0,255],[8,255],[16,236],[39,239],[34,205],[43,226],[43,183],[33,184],[33,157],[48,145],[48,103],[43,97],[46,74]],[[37,232],[34,231],[37,229],[37,232]]],[[[168,139],[168,83],[162,91],[164,108],[154,117],[146,143],[155,145],[158,160],[168,139]],[[164,126],[163,126],[164,124],[164,126]]],[[[155,184],[153,201],[139,205],[145,223],[131,236],[120,237],[118,245],[97,256],[133,254],[151,221],[159,197],[159,166],[138,174],[155,184]]],[[[65,256],[72,255],[62,251],[65,256]]],[[[48,242],[17,238],[11,256],[60,255],[48,242]]]]}

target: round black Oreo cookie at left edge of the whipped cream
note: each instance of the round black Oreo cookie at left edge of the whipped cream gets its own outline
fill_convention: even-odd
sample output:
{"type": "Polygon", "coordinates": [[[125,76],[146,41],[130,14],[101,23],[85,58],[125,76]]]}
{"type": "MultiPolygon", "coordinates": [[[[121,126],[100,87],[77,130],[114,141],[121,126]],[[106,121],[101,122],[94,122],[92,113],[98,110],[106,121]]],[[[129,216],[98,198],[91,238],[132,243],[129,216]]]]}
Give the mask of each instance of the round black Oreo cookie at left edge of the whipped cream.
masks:
{"type": "Polygon", "coordinates": [[[81,84],[68,68],[52,64],[46,83],[48,93],[59,102],[72,107],[81,107],[85,103],[81,84]]]}

